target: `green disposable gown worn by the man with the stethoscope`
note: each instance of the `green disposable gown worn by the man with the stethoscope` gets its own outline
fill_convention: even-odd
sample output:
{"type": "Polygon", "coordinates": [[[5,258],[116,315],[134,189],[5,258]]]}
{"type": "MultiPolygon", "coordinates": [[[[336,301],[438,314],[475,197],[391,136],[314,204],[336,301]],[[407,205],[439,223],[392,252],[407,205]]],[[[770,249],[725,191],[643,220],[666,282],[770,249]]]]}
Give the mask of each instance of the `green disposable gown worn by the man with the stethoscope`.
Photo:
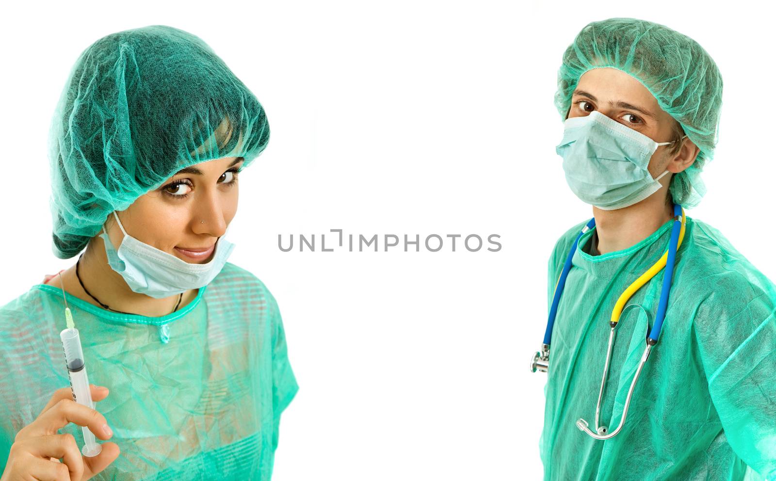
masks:
{"type": "MultiPolygon", "coordinates": [[[[584,224],[549,259],[548,307],[584,224]]],[[[688,217],[658,344],[636,383],[625,425],[598,441],[595,407],[611,311],[620,294],[667,250],[669,220],[622,251],[590,254],[588,230],[573,254],[550,344],[544,479],[776,479],[776,287],[719,230],[688,217]]],[[[601,402],[614,431],[654,323],[665,269],[625,304],[601,402]],[[632,306],[630,306],[632,305],[632,306]]],[[[543,375],[543,374],[542,374],[543,375]]]]}

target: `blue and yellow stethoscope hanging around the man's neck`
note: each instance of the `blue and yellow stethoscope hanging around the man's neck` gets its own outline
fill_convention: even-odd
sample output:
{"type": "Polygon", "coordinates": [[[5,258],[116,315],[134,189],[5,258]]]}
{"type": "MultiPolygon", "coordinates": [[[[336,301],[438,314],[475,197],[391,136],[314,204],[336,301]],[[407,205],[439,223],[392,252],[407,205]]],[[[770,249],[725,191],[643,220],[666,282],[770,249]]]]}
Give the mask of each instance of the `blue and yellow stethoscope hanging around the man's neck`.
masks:
{"type": "MultiPolygon", "coordinates": [[[[660,327],[663,327],[663,318],[666,316],[666,307],[668,305],[668,292],[671,288],[671,280],[674,277],[674,261],[676,260],[677,250],[679,249],[679,246],[681,246],[681,241],[684,239],[684,223],[684,209],[682,209],[679,204],[674,203],[674,226],[671,230],[671,239],[670,243],[668,244],[668,250],[657,262],[655,262],[652,267],[647,269],[647,271],[644,272],[639,277],[639,279],[636,279],[635,282],[629,285],[628,289],[625,289],[625,292],[622,292],[619,299],[617,299],[617,303],[615,303],[615,309],[611,311],[611,320],[609,321],[611,331],[609,332],[609,346],[606,352],[604,377],[601,379],[601,391],[598,393],[598,404],[595,406],[596,432],[591,431],[590,428],[587,427],[586,420],[582,419],[581,417],[579,420],[577,420],[577,427],[580,428],[580,431],[584,431],[587,434],[590,434],[593,438],[613,438],[622,429],[622,425],[625,424],[625,416],[628,414],[628,406],[630,404],[631,395],[633,394],[633,388],[636,386],[636,380],[639,379],[639,374],[641,373],[641,369],[644,367],[646,359],[650,357],[650,351],[652,350],[653,346],[657,344],[657,340],[660,337],[660,327]],[[617,327],[617,322],[620,318],[620,315],[622,314],[625,303],[628,302],[628,299],[630,299],[634,292],[639,290],[642,285],[646,284],[646,282],[652,279],[657,274],[657,272],[660,272],[660,269],[663,267],[666,268],[666,273],[663,275],[663,287],[660,289],[660,303],[657,305],[657,317],[655,323],[652,326],[650,335],[646,338],[646,349],[644,349],[644,353],[641,356],[641,362],[639,362],[639,368],[636,369],[636,375],[633,376],[633,381],[631,382],[630,389],[628,390],[628,397],[625,399],[625,406],[622,410],[622,419],[620,420],[620,424],[617,426],[615,431],[612,431],[611,434],[607,434],[607,427],[598,425],[598,417],[601,412],[601,398],[604,396],[604,387],[606,386],[606,375],[609,372],[611,349],[615,343],[615,327],[617,327]]],[[[544,333],[544,342],[542,342],[542,351],[538,351],[535,353],[535,355],[532,355],[531,372],[536,372],[537,369],[542,372],[547,372],[549,369],[549,341],[553,337],[553,325],[555,324],[555,316],[558,312],[560,295],[563,293],[563,287],[566,285],[566,276],[569,275],[569,271],[571,270],[571,259],[573,258],[574,252],[577,251],[577,244],[579,244],[579,240],[580,237],[582,237],[582,234],[588,230],[591,230],[593,227],[595,227],[595,218],[591,219],[590,222],[588,222],[587,225],[582,228],[580,233],[577,234],[577,238],[574,240],[574,243],[571,246],[571,250],[566,257],[566,264],[563,265],[563,272],[560,273],[558,282],[555,285],[555,294],[553,295],[553,304],[549,309],[549,318],[547,320],[547,329],[544,333]]]]}

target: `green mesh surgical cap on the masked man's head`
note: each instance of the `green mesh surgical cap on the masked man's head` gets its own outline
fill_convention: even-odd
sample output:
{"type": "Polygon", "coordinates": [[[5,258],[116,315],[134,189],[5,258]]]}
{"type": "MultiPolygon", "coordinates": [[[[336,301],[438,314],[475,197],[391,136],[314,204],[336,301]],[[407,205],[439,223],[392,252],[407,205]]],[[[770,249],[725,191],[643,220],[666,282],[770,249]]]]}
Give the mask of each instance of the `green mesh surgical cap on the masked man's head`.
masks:
{"type": "Polygon", "coordinates": [[[695,162],[674,175],[670,193],[686,209],[706,193],[701,171],[712,160],[719,136],[722,75],[695,40],[667,26],[638,19],[591,22],[563,54],[555,106],[563,120],[580,77],[592,68],[612,67],[632,75],[681,124],[700,148],[695,162]]]}

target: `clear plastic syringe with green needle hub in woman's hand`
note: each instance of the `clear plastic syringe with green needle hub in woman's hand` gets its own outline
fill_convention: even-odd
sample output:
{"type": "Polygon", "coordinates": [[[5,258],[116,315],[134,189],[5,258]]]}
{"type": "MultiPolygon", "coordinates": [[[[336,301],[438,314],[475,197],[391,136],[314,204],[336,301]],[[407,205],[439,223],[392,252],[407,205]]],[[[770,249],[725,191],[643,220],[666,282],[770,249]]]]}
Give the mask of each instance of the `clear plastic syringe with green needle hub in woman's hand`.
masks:
{"type": "MultiPolygon", "coordinates": [[[[59,275],[59,281],[62,283],[62,297],[64,297],[64,282],[62,274],[59,275]]],[[[86,365],[84,364],[84,351],[81,350],[81,337],[78,329],[73,322],[73,314],[68,307],[68,299],[64,299],[64,318],[68,323],[68,328],[62,330],[59,334],[64,348],[64,360],[68,365],[68,376],[70,376],[70,388],[73,391],[73,400],[76,403],[83,404],[91,409],[95,408],[92,401],[92,391],[89,389],[89,380],[86,376],[86,365]]],[[[81,427],[84,432],[85,445],[81,452],[85,456],[96,456],[102,451],[102,445],[95,441],[95,435],[86,426],[81,427]]]]}

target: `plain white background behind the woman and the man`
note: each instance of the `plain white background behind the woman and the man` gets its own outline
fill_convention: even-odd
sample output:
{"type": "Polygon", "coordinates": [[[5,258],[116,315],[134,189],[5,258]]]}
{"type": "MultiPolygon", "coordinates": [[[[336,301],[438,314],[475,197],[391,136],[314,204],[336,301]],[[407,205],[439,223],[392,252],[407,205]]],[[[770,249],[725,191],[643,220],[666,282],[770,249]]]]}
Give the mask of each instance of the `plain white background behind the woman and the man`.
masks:
{"type": "MultiPolygon", "coordinates": [[[[557,237],[591,207],[566,186],[553,106],[587,22],[691,36],[724,78],[708,194],[691,217],[776,279],[773,17],[648,2],[106,2],[6,12],[0,304],[68,268],[50,251],[47,129],[78,54],[164,24],[203,38],[258,97],[268,148],[241,175],[231,262],[279,302],[300,384],[278,480],[541,479],[546,325],[557,237]],[[500,234],[499,252],[284,253],[278,234],[500,234]]],[[[320,241],[320,237],[319,237],[320,241]]],[[[328,242],[327,242],[327,245],[328,242]]]]}

